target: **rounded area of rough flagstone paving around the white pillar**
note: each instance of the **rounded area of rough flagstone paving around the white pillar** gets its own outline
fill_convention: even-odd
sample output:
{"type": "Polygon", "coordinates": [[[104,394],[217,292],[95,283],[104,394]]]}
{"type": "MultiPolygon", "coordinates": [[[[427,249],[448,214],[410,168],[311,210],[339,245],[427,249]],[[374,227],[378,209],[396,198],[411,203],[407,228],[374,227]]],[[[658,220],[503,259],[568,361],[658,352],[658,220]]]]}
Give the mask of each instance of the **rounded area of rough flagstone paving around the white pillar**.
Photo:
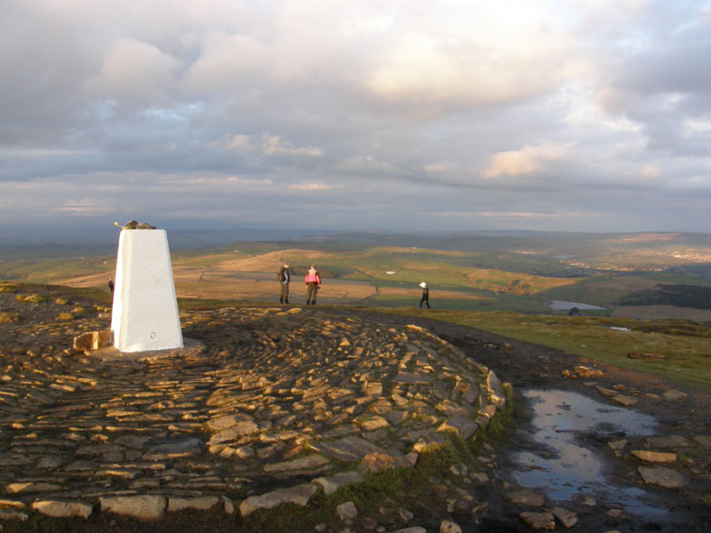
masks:
{"type": "Polygon", "coordinates": [[[308,505],[468,439],[499,380],[416,326],[300,308],[182,314],[186,349],[76,352],[108,317],[4,324],[0,491],[16,513],[153,519],[224,505],[308,505]]]}

